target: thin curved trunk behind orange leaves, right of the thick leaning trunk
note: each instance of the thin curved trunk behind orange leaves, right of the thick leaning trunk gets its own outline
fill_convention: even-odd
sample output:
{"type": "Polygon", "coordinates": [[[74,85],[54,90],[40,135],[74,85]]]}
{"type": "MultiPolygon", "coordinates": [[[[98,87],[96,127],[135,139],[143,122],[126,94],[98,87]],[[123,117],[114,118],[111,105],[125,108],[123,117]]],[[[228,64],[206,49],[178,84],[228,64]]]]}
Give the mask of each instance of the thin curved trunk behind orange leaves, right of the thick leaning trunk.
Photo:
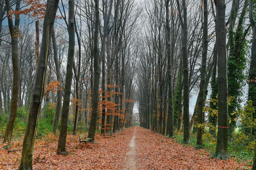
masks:
{"type": "MultiPolygon", "coordinates": [[[[56,77],[57,77],[57,81],[60,82],[60,80],[61,80],[60,66],[59,66],[58,49],[57,49],[57,43],[56,43],[54,29],[52,32],[52,43],[53,43],[54,63],[55,63],[55,67],[56,67],[56,77]]],[[[61,91],[58,90],[57,91],[57,105],[56,105],[56,111],[55,111],[55,116],[54,116],[54,121],[53,121],[53,134],[54,135],[57,135],[57,130],[58,130],[60,108],[61,108],[61,104],[62,104],[61,99],[62,99],[62,94],[61,94],[61,91]]]]}

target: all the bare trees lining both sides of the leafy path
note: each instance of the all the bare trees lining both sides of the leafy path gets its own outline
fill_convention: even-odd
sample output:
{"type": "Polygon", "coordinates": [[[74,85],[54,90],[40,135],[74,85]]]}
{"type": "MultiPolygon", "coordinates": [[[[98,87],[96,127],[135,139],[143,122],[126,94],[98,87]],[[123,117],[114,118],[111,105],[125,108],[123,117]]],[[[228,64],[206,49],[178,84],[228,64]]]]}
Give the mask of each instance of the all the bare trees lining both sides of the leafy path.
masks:
{"type": "Polygon", "coordinates": [[[246,80],[245,105],[256,107],[255,9],[254,0],[150,0],[141,6],[135,0],[5,0],[0,7],[0,112],[9,115],[4,147],[11,146],[18,107],[30,108],[19,169],[32,169],[42,106],[56,103],[57,154],[66,154],[69,125],[75,135],[78,123],[85,130],[88,124],[87,138],[94,142],[97,129],[104,135],[129,127],[137,100],[141,126],[169,137],[183,129],[185,143],[197,132],[197,147],[209,131],[217,137],[214,157],[228,159],[238,119],[241,131],[255,139],[255,111],[249,125],[241,111],[246,80]],[[20,26],[21,15],[28,26],[20,26]],[[2,29],[5,18],[9,29],[2,29]],[[37,19],[43,25],[37,21],[31,28],[37,19]]]}

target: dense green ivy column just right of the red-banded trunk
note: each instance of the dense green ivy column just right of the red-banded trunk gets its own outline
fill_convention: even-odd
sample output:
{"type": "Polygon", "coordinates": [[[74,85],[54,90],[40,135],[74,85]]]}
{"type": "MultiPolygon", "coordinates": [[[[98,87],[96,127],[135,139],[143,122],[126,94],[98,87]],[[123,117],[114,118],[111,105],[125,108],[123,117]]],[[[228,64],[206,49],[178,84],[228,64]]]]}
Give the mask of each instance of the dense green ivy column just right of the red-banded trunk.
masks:
{"type": "MultiPolygon", "coordinates": [[[[248,2],[248,1],[247,1],[248,2]]],[[[243,41],[244,36],[244,22],[246,9],[243,8],[241,15],[239,17],[239,24],[237,26],[236,32],[234,33],[233,28],[229,29],[229,41],[234,40],[233,44],[230,44],[230,50],[228,55],[228,93],[229,96],[233,96],[234,99],[230,103],[228,108],[228,114],[231,122],[229,123],[229,138],[232,137],[233,131],[236,128],[236,119],[239,115],[239,110],[241,108],[241,96],[242,87],[245,85],[246,76],[244,70],[246,68],[246,39],[243,41]]]]}

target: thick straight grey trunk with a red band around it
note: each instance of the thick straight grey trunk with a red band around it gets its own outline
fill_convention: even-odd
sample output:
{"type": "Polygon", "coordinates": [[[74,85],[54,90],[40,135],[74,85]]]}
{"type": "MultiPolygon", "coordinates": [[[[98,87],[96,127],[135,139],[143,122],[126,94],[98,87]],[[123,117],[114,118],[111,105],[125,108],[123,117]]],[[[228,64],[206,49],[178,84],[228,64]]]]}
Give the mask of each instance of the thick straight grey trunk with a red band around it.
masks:
{"type": "Polygon", "coordinates": [[[217,51],[218,51],[218,134],[213,155],[218,159],[229,159],[228,154],[228,82],[225,0],[214,0],[216,5],[217,51]]]}

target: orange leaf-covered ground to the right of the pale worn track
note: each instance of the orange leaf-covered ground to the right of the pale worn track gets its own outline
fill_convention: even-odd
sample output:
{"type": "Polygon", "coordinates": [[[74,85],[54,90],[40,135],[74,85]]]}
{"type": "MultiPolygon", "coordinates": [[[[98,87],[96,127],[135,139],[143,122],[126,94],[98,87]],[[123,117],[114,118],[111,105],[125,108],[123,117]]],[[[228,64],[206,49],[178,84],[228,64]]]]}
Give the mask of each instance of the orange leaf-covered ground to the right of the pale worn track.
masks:
{"type": "MultiPolygon", "coordinates": [[[[205,149],[185,147],[158,133],[142,127],[134,129],[136,170],[235,170],[246,169],[245,164],[239,164],[234,159],[210,159],[205,149]]],[[[133,141],[132,138],[132,141],[133,141]]],[[[132,151],[132,149],[131,149],[132,151]]],[[[133,166],[134,167],[134,166],[133,166]]],[[[131,168],[133,168],[131,167],[131,168]]]]}

